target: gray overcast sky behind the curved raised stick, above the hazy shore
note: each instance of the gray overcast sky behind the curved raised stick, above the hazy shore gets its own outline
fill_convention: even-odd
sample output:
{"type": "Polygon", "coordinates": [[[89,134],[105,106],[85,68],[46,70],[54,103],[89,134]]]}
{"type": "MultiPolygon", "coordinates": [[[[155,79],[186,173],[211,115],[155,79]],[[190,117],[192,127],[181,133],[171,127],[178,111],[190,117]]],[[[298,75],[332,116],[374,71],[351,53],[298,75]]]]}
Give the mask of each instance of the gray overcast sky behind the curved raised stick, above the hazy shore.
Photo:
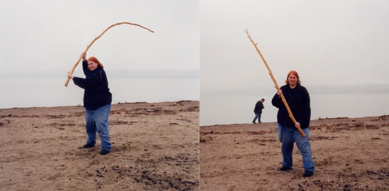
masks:
{"type": "Polygon", "coordinates": [[[87,52],[106,70],[199,70],[198,1],[12,0],[0,2],[0,75],[56,71],[66,80],[86,45],[119,22],[155,33],[126,24],[109,29],[87,52]]]}

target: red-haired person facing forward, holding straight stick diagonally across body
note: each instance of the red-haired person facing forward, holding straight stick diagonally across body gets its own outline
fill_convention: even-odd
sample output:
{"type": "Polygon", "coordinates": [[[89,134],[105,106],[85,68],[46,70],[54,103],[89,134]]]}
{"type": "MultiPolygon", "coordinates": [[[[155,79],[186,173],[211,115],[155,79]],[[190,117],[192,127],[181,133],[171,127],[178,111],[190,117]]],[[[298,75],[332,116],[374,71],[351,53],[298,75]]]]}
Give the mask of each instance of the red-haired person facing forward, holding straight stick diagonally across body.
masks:
{"type": "Polygon", "coordinates": [[[311,146],[309,144],[309,122],[311,119],[311,107],[308,91],[301,86],[299,75],[296,71],[290,71],[287,75],[286,85],[282,86],[280,90],[274,95],[271,103],[278,108],[277,123],[278,136],[282,143],[282,168],[280,171],[291,170],[293,166],[293,147],[296,142],[303,157],[304,177],[313,175],[315,167],[312,161],[311,146]],[[288,103],[291,112],[293,113],[297,123],[290,119],[288,111],[283,104],[280,94],[283,94],[288,103]],[[300,127],[307,136],[303,138],[297,128],[300,127]]]}

